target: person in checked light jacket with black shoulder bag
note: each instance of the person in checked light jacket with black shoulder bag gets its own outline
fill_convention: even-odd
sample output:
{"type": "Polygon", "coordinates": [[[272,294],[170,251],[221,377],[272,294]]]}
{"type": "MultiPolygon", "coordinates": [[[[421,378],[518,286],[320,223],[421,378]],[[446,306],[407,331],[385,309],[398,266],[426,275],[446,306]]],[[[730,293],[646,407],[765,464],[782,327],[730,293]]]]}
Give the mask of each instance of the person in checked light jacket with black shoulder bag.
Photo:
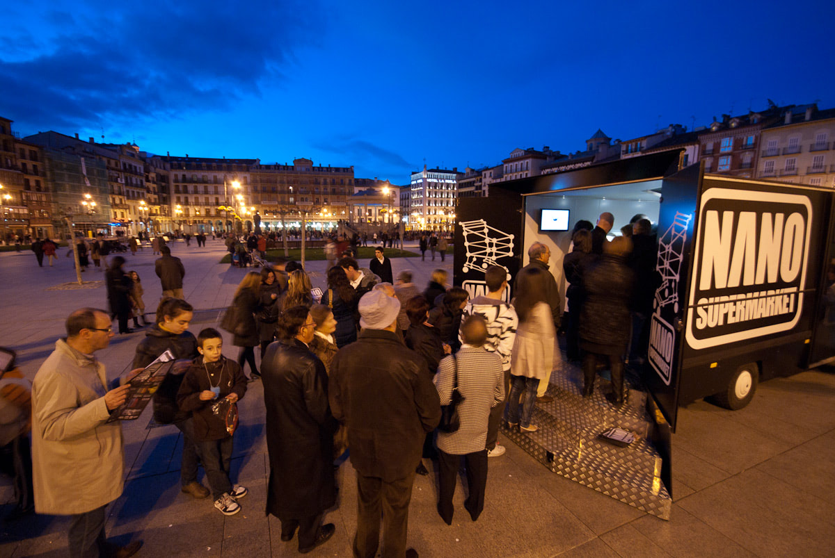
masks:
{"type": "Polygon", "coordinates": [[[484,509],[488,420],[490,410],[504,401],[502,361],[483,347],[488,338],[486,321],[478,315],[468,317],[461,334],[461,350],[441,361],[434,379],[441,405],[449,405],[455,389],[463,395],[458,430],[438,432],[438,515],[447,525],[453,524],[453,494],[462,457],[468,489],[464,509],[473,521],[484,509]]]}

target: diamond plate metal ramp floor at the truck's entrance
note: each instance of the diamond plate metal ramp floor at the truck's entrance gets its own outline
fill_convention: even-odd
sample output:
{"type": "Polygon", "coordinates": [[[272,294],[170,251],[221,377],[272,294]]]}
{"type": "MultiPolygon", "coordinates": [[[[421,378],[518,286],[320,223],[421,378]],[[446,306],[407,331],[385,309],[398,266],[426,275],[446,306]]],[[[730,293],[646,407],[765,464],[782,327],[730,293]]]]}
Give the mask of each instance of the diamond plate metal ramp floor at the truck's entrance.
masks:
{"type": "Polygon", "coordinates": [[[629,375],[625,384],[620,410],[606,400],[611,383],[600,374],[594,395],[584,400],[579,366],[560,361],[547,391],[554,400],[534,409],[531,423],[539,430],[509,430],[504,424],[502,432],[554,473],[669,520],[672,500],[660,480],[661,458],[649,440],[653,423],[645,410],[646,394],[629,375]],[[629,430],[636,440],[620,448],[597,439],[613,426],[629,430]]]}

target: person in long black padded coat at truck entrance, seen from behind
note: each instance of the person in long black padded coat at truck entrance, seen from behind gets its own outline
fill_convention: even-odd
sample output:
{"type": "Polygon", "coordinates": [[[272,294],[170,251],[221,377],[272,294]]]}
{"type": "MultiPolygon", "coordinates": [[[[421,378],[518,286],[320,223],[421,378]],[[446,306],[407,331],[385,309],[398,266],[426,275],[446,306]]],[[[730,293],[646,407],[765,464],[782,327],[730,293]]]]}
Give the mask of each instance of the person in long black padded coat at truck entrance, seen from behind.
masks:
{"type": "Polygon", "coordinates": [[[598,356],[606,356],[615,390],[610,401],[620,406],[624,398],[624,354],[630,341],[629,303],[634,275],[626,266],[626,256],[632,243],[618,237],[604,243],[603,248],[600,258],[580,269],[586,295],[579,320],[579,346],[584,353],[583,396],[590,396],[595,388],[598,356]]]}

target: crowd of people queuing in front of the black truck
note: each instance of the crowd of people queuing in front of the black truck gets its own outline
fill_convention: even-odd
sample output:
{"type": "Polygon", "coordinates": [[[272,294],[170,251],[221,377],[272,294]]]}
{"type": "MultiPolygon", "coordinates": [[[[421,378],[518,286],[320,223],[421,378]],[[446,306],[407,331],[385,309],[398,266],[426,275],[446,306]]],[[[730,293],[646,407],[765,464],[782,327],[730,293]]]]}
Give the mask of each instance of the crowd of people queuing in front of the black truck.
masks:
{"type": "Polygon", "coordinates": [[[240,512],[248,490],[230,470],[236,425],[230,413],[247,384],[260,380],[270,460],[266,513],[281,521],[281,540],[292,540],[297,531],[305,553],[333,535],[334,525],[322,518],[337,503],[335,467],[349,452],[357,475],[353,554],[416,556],[407,548],[415,475],[428,475],[426,465],[435,463],[438,515],[451,525],[463,462],[464,508],[478,520],[488,460],[505,452],[498,444],[503,421],[509,429],[539,429],[534,411],[550,400],[545,390],[559,358],[561,327],[568,334],[567,358],[582,364],[584,397],[593,393],[597,362],[606,357],[610,400],[623,403],[625,360],[642,358],[646,293],[655,279],[642,252],[650,247],[641,238],[650,234],[649,222],[635,222],[632,240],[624,235],[607,242],[613,221],[601,214],[596,226],[580,222],[573,232],[573,249],[564,258],[564,324],[546,244],[529,247],[512,301],[502,267],[485,270],[487,293],[471,299],[449,284],[443,269],[421,291],[408,271],[392,281],[384,246],[368,267],[348,246],[327,269],[321,297],[296,262],[245,274],[220,322],[239,348],[236,358],[225,356],[217,329],[196,337],[188,330],[194,309],[183,297],[185,269],[163,245],[155,271],[164,296],[154,324],[135,349],[132,371],[109,385],[95,353],[114,336],[112,319],[126,333],[131,317],[138,325],[145,315],[139,275],[124,270],[122,256],[113,256],[106,264],[109,309],[70,314],[67,337],[35,376],[29,403],[35,467],[30,480],[18,483],[19,511],[71,515],[72,555],[139,550],[140,541],[117,548],[104,534],[104,508],[124,483],[119,422],[107,419],[124,403],[126,382],[169,351],[179,362],[154,395],[154,419],[183,435],[184,494],[210,498],[224,515],[240,512]],[[442,406],[458,400],[458,428],[438,430],[442,406]],[[198,479],[200,465],[208,488],[198,479]]]}

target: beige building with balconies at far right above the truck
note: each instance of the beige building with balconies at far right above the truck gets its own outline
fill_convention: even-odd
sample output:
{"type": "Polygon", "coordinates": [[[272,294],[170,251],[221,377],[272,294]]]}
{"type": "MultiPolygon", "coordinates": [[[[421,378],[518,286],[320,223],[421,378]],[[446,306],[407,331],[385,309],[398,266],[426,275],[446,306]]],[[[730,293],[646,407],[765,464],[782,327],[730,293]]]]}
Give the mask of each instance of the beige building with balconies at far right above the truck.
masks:
{"type": "Polygon", "coordinates": [[[762,129],[757,178],[835,188],[835,108],[787,108],[762,129]]]}

